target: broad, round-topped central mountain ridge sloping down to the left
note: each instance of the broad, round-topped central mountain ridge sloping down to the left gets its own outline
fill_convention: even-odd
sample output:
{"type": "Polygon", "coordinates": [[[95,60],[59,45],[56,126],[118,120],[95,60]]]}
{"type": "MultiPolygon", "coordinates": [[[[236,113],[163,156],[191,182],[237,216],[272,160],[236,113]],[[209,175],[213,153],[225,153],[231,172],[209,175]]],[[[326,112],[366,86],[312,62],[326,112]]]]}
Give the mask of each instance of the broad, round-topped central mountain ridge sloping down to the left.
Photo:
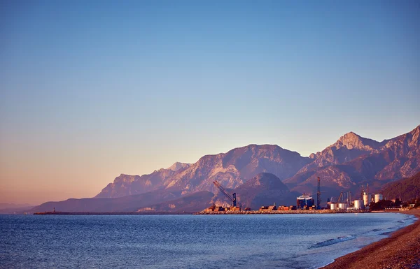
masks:
{"type": "Polygon", "coordinates": [[[158,189],[181,191],[216,191],[213,181],[235,189],[258,173],[273,173],[281,180],[295,175],[311,159],[277,145],[248,145],[227,153],[206,155],[196,163],[174,163],[150,175],[120,175],[105,187],[97,198],[116,198],[158,189]],[[174,169],[178,168],[178,169],[174,169]]]}

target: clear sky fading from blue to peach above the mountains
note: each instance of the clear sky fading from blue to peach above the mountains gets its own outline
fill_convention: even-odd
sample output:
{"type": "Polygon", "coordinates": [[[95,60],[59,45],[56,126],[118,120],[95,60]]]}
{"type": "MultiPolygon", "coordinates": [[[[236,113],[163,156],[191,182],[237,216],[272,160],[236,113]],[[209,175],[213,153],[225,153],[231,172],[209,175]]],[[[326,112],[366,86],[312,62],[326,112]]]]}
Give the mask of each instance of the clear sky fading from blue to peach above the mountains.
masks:
{"type": "Polygon", "coordinates": [[[420,124],[419,1],[1,1],[0,203],[420,124]]]}

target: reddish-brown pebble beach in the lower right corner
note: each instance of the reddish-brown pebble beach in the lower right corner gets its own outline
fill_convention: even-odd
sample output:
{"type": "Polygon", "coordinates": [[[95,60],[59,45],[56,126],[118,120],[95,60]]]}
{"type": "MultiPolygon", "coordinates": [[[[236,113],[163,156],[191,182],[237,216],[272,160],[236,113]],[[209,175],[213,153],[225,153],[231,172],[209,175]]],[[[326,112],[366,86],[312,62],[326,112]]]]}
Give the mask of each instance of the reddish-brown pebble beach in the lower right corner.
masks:
{"type": "Polygon", "coordinates": [[[320,269],[420,268],[420,209],[400,213],[415,215],[417,220],[390,237],[341,256],[320,269]]]}

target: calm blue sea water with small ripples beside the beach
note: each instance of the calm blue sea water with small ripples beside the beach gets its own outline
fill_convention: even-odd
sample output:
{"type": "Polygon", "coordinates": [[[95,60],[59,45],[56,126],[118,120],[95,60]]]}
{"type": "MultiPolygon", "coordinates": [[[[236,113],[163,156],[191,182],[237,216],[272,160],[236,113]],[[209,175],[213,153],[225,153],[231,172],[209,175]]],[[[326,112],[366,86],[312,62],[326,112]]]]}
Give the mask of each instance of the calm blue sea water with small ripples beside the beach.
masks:
{"type": "Polygon", "coordinates": [[[0,268],[318,268],[414,217],[0,215],[0,268]]]}

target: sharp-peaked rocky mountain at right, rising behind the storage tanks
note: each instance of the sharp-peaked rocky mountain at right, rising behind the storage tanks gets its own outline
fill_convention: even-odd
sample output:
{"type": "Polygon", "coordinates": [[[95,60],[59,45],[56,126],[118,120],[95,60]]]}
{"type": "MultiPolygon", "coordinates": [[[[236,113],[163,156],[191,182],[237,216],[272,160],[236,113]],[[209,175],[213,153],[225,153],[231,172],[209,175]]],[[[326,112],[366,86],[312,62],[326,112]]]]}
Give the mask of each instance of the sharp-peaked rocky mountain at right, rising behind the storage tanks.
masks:
{"type": "Polygon", "coordinates": [[[313,191],[319,176],[327,192],[328,189],[356,191],[367,183],[379,190],[386,182],[410,177],[420,170],[419,133],[420,126],[417,126],[409,133],[381,143],[348,133],[318,152],[312,163],[284,183],[292,191],[313,191]]]}

